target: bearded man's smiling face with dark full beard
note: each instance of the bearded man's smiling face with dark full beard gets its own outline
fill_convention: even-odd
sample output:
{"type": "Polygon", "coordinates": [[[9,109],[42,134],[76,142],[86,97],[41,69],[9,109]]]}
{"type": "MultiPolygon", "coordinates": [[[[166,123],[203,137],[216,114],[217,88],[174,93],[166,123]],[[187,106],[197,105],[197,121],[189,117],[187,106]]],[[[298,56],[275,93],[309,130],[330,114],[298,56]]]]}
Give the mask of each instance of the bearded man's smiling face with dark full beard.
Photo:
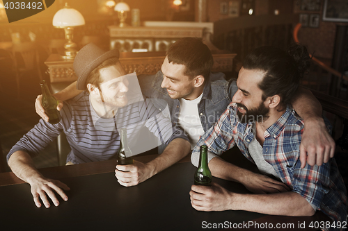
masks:
{"type": "Polygon", "coordinates": [[[232,102],[237,103],[237,115],[239,121],[243,123],[262,122],[269,117],[269,108],[262,101],[262,90],[258,87],[263,76],[264,71],[260,70],[249,70],[242,67],[239,71],[238,91],[233,96],[232,102]]]}

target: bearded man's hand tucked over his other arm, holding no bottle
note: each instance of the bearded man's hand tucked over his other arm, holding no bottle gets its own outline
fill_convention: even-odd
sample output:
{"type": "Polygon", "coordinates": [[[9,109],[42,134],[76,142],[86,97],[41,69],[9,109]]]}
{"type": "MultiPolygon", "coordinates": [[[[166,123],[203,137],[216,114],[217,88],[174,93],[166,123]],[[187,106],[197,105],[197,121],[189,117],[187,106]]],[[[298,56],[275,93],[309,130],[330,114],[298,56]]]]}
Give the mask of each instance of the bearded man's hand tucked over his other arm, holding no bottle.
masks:
{"type": "Polygon", "coordinates": [[[283,182],[258,173],[248,176],[248,179],[244,180],[242,184],[254,194],[276,194],[291,190],[283,182]]]}

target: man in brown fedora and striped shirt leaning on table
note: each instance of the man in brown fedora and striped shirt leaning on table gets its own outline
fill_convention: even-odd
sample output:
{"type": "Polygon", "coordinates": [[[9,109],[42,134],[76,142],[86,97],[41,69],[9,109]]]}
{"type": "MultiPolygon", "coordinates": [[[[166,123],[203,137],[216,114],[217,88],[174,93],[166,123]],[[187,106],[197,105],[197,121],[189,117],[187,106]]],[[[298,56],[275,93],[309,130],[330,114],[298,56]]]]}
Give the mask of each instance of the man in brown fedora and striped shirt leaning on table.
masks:
{"type": "Polygon", "coordinates": [[[18,178],[31,185],[37,207],[41,207],[40,199],[45,207],[50,207],[49,198],[58,206],[54,191],[68,200],[63,190],[69,187],[42,176],[31,159],[61,132],[72,149],[67,157],[72,164],[114,159],[120,147],[118,128],[127,128],[131,139],[141,126],[159,137],[167,148],[155,160],[146,164],[134,160],[132,165],[117,166],[118,182],[125,186],[147,180],[191,151],[184,132],[172,126],[171,119],[164,117],[151,101],[134,101],[133,97],[129,103],[131,78],[127,78],[118,57],[117,49],[103,51],[93,43],[84,46],[74,60],[77,89],[84,92],[65,101],[60,122],[51,124],[40,119],[8,153],[8,165],[18,178]]]}

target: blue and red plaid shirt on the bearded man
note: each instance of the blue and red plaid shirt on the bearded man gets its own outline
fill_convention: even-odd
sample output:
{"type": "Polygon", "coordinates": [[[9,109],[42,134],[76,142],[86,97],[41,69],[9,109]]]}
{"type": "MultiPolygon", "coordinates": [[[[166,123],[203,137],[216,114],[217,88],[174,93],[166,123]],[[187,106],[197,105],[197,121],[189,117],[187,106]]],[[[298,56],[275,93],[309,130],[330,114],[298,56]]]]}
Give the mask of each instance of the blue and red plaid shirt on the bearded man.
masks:
{"type": "MultiPolygon", "coordinates": [[[[274,167],[280,180],[306,198],[313,209],[322,210],[333,221],[346,221],[347,189],[335,159],[322,166],[306,164],[303,169],[300,167],[299,146],[303,129],[303,120],[287,107],[278,121],[264,132],[264,160],[274,167]]],[[[237,144],[243,155],[253,162],[248,146],[254,137],[252,122],[239,122],[237,106],[230,103],[216,125],[200,137],[191,161],[198,164],[199,148],[203,144],[208,147],[209,160],[237,144]]]]}

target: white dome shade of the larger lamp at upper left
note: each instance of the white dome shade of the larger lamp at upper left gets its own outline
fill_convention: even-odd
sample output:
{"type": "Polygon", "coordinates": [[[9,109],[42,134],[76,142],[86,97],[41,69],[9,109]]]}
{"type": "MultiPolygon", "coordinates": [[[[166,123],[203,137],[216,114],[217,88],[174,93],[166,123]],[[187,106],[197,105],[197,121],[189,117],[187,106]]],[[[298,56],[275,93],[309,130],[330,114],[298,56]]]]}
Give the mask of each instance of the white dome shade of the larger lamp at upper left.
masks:
{"type": "Polygon", "coordinates": [[[67,27],[67,26],[81,26],[85,24],[84,16],[73,8],[63,8],[56,12],[53,17],[53,26],[67,27]]]}

